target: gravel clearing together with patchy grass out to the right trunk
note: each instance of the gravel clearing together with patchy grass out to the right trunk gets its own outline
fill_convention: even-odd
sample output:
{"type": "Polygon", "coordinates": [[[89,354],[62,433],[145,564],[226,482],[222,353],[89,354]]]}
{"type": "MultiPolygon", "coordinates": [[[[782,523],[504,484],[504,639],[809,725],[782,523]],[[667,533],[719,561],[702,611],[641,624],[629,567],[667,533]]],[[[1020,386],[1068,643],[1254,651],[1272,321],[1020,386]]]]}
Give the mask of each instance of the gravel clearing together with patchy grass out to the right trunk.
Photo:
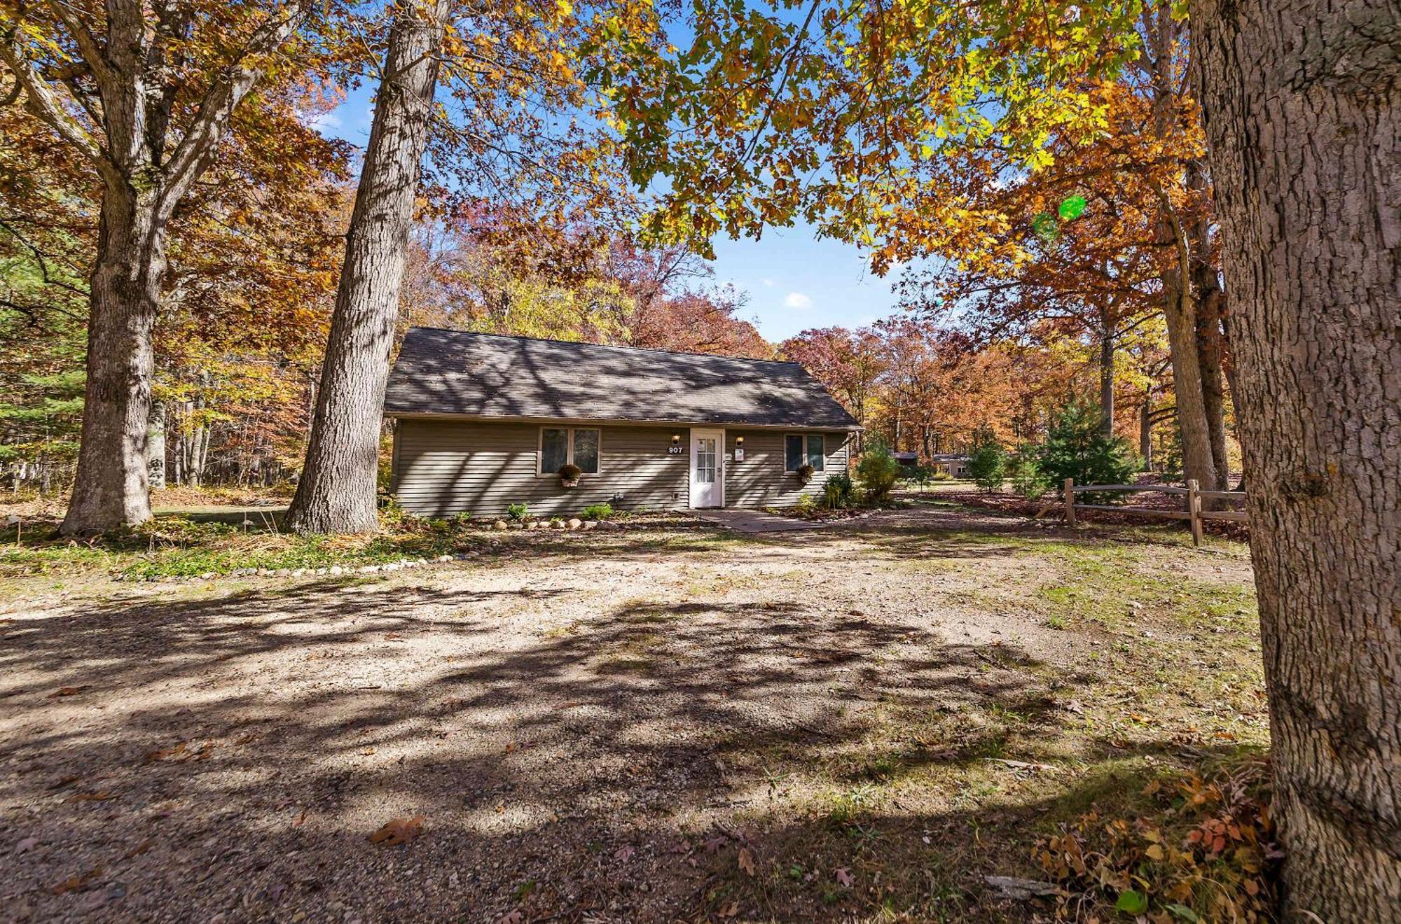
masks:
{"type": "Polygon", "coordinates": [[[0,918],[1024,920],[1265,742],[1245,549],[922,504],[0,603],[0,918]],[[398,839],[375,832],[406,819],[398,839]]]}

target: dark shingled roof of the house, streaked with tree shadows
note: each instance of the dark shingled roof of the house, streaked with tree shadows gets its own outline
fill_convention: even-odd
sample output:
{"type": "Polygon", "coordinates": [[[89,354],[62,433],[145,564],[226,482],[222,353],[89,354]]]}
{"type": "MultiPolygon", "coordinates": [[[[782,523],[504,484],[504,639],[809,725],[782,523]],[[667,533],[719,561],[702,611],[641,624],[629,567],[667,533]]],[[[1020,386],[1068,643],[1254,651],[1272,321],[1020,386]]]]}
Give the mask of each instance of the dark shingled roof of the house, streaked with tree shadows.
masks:
{"type": "Polygon", "coordinates": [[[857,428],[797,363],[410,328],[387,414],[857,428]]]}

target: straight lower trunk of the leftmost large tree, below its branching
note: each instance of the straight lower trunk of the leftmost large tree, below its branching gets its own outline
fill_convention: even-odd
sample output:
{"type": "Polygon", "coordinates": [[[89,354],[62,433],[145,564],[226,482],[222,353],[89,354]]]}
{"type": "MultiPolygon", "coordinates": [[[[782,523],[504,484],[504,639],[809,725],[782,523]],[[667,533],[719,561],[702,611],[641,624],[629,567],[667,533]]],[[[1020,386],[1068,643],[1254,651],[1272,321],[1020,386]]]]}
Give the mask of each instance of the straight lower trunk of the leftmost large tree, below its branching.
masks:
{"type": "Polygon", "coordinates": [[[108,183],[88,312],[87,392],[73,496],[60,532],[90,535],[151,518],[151,332],[165,277],[165,227],[151,193],[108,183]]]}

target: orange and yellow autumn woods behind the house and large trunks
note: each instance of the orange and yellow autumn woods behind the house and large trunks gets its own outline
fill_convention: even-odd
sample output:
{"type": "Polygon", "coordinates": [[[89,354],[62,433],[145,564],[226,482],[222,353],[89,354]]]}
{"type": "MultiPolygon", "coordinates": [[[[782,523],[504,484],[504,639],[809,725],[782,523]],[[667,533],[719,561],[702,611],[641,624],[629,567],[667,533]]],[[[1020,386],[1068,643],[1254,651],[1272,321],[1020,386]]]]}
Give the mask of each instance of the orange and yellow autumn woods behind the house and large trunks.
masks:
{"type": "MultiPolygon", "coordinates": [[[[646,232],[639,217],[665,210],[664,196],[612,176],[542,209],[541,189],[559,185],[539,172],[542,153],[565,139],[517,125],[537,157],[497,188],[464,188],[454,153],[430,154],[447,167],[423,185],[398,330],[796,360],[869,435],[923,459],[967,451],[984,431],[1009,449],[1035,442],[1058,407],[1087,400],[1145,466],[1177,475],[1185,412],[1188,438],[1222,456],[1203,483],[1224,486],[1237,458],[1231,361],[1185,28],[1150,6],[1136,32],[1157,53],[1093,85],[1089,139],[1052,137],[1034,172],[972,144],[916,171],[887,218],[898,232],[870,246],[877,272],[902,267],[890,316],[870,326],[765,342],[747,294],[715,283],[703,244],[646,232]]],[[[345,73],[290,74],[249,97],[177,210],[154,486],[297,477],[359,168],[356,148],[315,127],[345,73]]],[[[586,146],[595,172],[621,172],[612,144],[586,146]]],[[[0,463],[15,493],[62,493],[73,479],[99,192],[70,146],[21,106],[0,108],[0,463]]]]}

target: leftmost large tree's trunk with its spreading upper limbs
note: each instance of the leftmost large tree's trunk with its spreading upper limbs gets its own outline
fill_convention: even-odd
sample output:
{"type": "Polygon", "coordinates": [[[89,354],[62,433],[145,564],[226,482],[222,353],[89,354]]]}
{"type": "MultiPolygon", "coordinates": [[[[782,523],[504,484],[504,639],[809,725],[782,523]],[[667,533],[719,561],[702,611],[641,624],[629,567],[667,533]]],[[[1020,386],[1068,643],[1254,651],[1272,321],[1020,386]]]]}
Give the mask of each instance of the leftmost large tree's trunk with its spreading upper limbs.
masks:
{"type": "Polygon", "coordinates": [[[95,533],[150,519],[147,440],[151,332],[165,280],[167,225],[209,167],[234,109],[262,73],[262,57],[305,20],[311,4],[276,7],[192,109],[178,106],[193,14],[175,4],[108,0],[105,32],[64,4],[49,4],[78,62],[50,73],[48,53],[15,22],[0,36],[0,64],[25,108],[92,164],[102,181],[97,260],[90,277],[87,391],[64,533],[95,533]],[[74,70],[77,69],[77,70],[74,70]],[[188,118],[186,118],[188,113],[188,118]],[[177,130],[181,123],[184,130],[177,130]]]}

